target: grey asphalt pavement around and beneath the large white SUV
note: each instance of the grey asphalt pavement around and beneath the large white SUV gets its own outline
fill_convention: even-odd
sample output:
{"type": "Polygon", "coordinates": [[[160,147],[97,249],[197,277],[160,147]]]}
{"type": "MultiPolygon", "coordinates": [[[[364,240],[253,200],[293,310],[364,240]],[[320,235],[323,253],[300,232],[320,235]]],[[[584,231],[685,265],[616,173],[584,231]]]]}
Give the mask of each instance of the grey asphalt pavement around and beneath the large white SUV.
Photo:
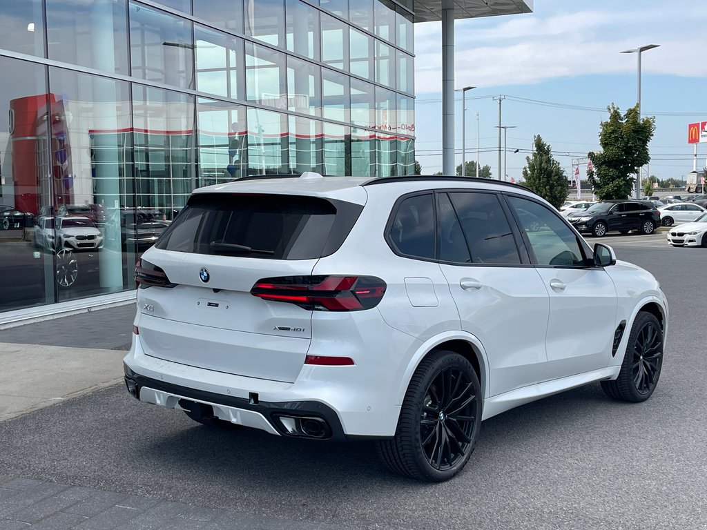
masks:
{"type": "MultiPolygon", "coordinates": [[[[670,301],[662,376],[643,404],[591,384],[508,411],[484,422],[459,476],[430,485],[385,471],[368,442],[213,430],[115,385],[0,423],[0,529],[707,529],[707,251],[667,247],[664,233],[602,242],[670,301]]],[[[104,348],[125,345],[109,336],[129,336],[128,306],[0,341],[59,334],[79,348],[81,317],[105,329],[104,348]]]]}

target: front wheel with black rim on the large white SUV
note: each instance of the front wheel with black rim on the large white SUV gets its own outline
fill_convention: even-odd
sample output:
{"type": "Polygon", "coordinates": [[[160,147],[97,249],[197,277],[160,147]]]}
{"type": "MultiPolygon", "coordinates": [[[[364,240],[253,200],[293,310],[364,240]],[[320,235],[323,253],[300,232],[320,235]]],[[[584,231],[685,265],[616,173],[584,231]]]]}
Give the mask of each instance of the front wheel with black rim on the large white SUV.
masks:
{"type": "Polygon", "coordinates": [[[654,314],[640,312],[633,322],[629,344],[619,377],[602,381],[607,396],[619,401],[640,403],[653,394],[660,378],[663,358],[663,336],[654,314]]]}

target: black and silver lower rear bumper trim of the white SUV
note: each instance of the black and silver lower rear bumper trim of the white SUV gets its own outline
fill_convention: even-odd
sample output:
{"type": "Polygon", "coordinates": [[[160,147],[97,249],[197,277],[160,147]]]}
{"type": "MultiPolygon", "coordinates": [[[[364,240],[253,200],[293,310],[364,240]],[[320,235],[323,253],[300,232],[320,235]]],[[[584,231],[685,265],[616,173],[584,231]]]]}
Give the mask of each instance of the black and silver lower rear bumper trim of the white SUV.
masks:
{"type": "Polygon", "coordinates": [[[331,430],[327,439],[346,440],[337,413],[329,406],[317,401],[260,401],[259,395],[251,392],[247,398],[216,394],[210,391],[182,387],[178,384],[153,379],[134,372],[123,364],[125,382],[131,395],[153,405],[184,410],[183,400],[211,406],[214,416],[237,425],[269,432],[272,435],[289,435],[280,417],[320,418],[331,430]]]}

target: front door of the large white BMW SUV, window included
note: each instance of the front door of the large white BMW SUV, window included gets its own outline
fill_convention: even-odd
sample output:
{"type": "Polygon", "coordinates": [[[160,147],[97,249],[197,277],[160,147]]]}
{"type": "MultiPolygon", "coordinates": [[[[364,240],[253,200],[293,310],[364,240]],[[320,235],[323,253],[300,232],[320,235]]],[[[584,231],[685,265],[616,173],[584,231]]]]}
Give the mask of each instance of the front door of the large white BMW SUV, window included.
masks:
{"type": "Polygon", "coordinates": [[[614,282],[550,208],[519,196],[508,196],[508,204],[550,298],[545,379],[607,366],[618,324],[614,282]],[[530,216],[541,219],[544,230],[532,232],[525,221],[530,216]]]}

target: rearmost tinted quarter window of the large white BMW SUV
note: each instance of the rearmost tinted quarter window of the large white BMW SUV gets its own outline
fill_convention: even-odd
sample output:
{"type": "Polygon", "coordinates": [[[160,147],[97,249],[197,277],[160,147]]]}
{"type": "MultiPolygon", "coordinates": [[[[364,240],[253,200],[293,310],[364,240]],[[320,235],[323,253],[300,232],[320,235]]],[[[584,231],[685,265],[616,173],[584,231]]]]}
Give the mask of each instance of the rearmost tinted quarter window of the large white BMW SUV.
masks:
{"type": "Polygon", "coordinates": [[[435,216],[432,194],[416,195],[402,201],[390,227],[390,242],[400,254],[435,257],[435,216]]]}

